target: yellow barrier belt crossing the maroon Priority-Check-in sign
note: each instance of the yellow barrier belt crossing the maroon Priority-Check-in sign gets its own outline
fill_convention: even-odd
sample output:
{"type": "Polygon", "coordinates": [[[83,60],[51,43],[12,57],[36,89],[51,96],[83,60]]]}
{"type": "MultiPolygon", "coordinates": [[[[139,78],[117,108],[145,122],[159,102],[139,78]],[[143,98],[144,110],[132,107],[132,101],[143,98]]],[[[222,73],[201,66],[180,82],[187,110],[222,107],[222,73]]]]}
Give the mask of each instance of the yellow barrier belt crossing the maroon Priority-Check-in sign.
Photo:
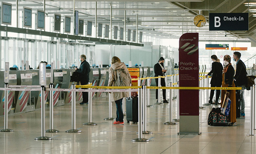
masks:
{"type": "Polygon", "coordinates": [[[214,89],[214,90],[241,90],[242,87],[147,87],[147,89],[187,89],[187,90],[214,89]]]}

